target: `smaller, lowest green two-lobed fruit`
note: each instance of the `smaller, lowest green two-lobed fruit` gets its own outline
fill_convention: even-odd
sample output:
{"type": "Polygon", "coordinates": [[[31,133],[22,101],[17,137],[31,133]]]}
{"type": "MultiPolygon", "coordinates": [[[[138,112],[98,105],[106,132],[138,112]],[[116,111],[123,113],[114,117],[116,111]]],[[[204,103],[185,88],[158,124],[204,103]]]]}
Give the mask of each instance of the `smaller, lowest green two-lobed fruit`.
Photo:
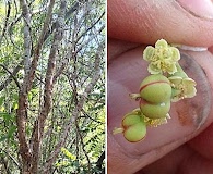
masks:
{"type": "Polygon", "coordinates": [[[137,142],[146,135],[146,125],[141,115],[127,114],[122,120],[123,136],[130,142],[137,142]]]}

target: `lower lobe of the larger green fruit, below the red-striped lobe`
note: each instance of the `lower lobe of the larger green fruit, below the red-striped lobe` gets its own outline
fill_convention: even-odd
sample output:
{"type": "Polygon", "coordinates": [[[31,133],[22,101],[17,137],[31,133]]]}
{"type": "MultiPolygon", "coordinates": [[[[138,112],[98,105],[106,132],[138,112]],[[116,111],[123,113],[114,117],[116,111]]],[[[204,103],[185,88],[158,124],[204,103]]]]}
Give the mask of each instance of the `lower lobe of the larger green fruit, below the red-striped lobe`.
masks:
{"type": "Polygon", "coordinates": [[[165,117],[166,114],[169,112],[170,101],[162,102],[159,104],[153,104],[141,100],[140,109],[141,112],[149,119],[162,119],[165,117]]]}

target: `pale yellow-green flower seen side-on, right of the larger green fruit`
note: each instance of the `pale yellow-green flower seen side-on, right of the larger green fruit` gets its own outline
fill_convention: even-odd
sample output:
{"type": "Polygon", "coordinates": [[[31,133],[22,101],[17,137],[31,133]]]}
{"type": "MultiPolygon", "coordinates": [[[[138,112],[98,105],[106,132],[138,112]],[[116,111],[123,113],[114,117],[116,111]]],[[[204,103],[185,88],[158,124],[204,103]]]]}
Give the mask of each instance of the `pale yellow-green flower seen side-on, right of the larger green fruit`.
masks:
{"type": "Polygon", "coordinates": [[[196,82],[192,78],[171,76],[168,77],[173,87],[171,101],[176,102],[184,98],[192,98],[196,96],[196,82]]]}

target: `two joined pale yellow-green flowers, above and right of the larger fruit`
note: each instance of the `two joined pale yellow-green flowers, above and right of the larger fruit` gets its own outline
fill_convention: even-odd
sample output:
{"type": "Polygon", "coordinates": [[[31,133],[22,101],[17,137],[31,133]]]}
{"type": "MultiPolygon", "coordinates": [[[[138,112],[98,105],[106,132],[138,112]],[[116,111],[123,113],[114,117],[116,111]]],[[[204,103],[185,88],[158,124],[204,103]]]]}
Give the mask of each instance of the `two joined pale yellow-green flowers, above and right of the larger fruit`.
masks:
{"type": "Polygon", "coordinates": [[[180,53],[177,48],[169,46],[166,40],[161,39],[155,44],[155,48],[152,46],[145,48],[143,59],[150,63],[147,71],[151,74],[169,74],[168,79],[173,88],[173,102],[196,96],[196,82],[189,78],[179,65],[180,53]]]}

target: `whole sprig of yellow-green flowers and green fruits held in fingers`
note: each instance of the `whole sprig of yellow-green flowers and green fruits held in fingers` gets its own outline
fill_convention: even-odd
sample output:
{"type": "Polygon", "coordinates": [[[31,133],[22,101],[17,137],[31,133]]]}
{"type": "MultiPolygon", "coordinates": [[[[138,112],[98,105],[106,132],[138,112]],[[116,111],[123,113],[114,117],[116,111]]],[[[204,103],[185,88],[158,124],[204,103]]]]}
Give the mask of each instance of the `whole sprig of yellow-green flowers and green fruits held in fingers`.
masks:
{"type": "Polygon", "coordinates": [[[170,102],[196,96],[196,82],[189,78],[181,69],[179,50],[161,39],[155,48],[147,46],[143,51],[143,59],[147,61],[147,71],[139,94],[130,94],[139,101],[139,108],[126,114],[120,128],[114,134],[122,133],[130,142],[137,142],[146,135],[146,126],[158,126],[169,119],[170,102]]]}

